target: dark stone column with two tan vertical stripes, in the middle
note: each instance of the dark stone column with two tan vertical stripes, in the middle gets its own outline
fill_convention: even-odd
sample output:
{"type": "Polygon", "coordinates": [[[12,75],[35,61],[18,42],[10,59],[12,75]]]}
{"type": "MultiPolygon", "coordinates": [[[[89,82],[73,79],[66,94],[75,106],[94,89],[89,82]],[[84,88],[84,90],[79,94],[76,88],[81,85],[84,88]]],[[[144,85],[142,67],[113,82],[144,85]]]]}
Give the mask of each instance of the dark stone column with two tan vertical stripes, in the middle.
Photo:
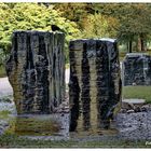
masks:
{"type": "Polygon", "coordinates": [[[116,42],[76,40],[69,49],[70,131],[109,128],[121,99],[116,42]]]}

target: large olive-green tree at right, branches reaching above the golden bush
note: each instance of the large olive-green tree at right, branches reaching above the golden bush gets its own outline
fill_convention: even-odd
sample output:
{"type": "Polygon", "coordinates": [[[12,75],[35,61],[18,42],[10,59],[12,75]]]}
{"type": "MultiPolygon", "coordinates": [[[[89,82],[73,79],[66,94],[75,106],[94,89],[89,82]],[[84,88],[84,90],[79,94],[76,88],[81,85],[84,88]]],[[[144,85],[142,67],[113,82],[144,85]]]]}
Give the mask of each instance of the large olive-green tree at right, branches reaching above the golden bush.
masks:
{"type": "Polygon", "coordinates": [[[140,45],[138,50],[146,50],[151,35],[151,4],[92,3],[91,6],[92,12],[119,20],[114,28],[116,37],[121,43],[127,43],[128,52],[133,51],[134,41],[140,45]]]}

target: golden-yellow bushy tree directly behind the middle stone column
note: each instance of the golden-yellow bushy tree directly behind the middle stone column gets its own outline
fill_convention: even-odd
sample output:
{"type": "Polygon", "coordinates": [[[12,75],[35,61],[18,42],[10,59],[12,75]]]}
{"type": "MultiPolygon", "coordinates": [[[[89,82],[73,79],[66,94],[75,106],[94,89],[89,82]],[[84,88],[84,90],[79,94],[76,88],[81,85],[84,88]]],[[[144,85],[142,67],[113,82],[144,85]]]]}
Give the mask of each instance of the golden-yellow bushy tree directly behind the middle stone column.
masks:
{"type": "Polygon", "coordinates": [[[83,38],[115,38],[118,20],[100,14],[88,15],[83,20],[83,38]]]}

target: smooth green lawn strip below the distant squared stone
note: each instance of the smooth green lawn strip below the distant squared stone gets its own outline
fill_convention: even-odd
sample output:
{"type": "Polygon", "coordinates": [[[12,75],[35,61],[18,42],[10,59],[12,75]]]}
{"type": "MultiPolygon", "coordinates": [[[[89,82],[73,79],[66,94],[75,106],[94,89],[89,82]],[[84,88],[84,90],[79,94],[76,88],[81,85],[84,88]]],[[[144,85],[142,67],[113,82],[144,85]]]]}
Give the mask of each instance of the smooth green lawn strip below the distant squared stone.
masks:
{"type": "Polygon", "coordinates": [[[124,86],[123,97],[146,99],[146,102],[151,104],[151,86],[124,86]]]}

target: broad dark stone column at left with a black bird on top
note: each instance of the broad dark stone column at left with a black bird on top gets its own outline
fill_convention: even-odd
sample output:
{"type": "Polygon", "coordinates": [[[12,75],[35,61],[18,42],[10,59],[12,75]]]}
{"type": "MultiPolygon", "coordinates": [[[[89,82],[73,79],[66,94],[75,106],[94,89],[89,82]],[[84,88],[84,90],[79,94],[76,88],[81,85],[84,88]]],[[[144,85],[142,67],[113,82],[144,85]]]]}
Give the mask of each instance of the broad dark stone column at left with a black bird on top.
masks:
{"type": "Polygon", "coordinates": [[[65,99],[64,33],[15,31],[6,73],[17,113],[51,113],[65,99]]]}

